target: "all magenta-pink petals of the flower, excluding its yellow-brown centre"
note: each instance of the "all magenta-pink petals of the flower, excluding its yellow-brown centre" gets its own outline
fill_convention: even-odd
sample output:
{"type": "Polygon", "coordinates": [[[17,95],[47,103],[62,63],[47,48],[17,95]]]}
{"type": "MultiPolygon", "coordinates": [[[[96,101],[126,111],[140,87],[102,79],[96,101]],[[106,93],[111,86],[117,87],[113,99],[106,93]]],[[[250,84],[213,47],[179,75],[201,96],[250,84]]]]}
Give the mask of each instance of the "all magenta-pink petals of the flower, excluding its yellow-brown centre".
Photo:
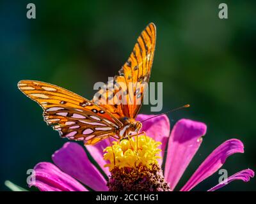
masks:
{"type": "MultiPolygon", "coordinates": [[[[142,121],[148,117],[152,117],[152,115],[141,114],[138,115],[137,120],[142,121]]],[[[162,143],[160,146],[162,158],[167,149],[164,179],[168,182],[170,190],[173,191],[199,149],[202,136],[206,133],[206,125],[202,122],[181,119],[175,124],[170,134],[170,122],[168,117],[163,115],[143,122],[142,131],[162,143]]],[[[36,164],[34,168],[36,180],[30,186],[36,186],[40,191],[88,191],[88,189],[108,191],[106,175],[109,175],[109,170],[104,168],[106,161],[103,159],[103,149],[108,145],[108,140],[104,140],[95,146],[86,146],[90,156],[102,169],[100,173],[81,145],[74,142],[65,143],[60,150],[52,155],[55,165],[47,162],[36,164]]],[[[240,140],[230,139],[222,143],[200,164],[180,191],[190,191],[218,171],[227,157],[243,152],[244,146],[240,140]]],[[[159,159],[159,164],[162,163],[163,159],[159,159]]],[[[239,171],[209,191],[220,189],[233,180],[248,182],[253,176],[253,170],[239,171]]]]}

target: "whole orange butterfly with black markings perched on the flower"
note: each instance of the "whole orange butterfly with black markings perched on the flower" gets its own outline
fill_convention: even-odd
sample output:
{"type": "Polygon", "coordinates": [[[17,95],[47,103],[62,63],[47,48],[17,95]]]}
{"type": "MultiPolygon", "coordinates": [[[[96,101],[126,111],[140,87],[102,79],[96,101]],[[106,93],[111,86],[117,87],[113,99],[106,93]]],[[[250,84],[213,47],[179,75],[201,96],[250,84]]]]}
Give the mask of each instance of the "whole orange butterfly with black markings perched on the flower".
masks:
{"type": "Polygon", "coordinates": [[[18,87],[43,108],[45,122],[61,137],[83,141],[84,145],[94,145],[109,137],[120,140],[132,132],[138,133],[142,127],[135,118],[147,89],[155,46],[156,26],[150,23],[140,34],[118,75],[96,92],[92,100],[35,80],[21,80],[18,87]],[[121,102],[120,92],[124,96],[121,102]],[[138,99],[141,103],[124,103],[138,99]]]}

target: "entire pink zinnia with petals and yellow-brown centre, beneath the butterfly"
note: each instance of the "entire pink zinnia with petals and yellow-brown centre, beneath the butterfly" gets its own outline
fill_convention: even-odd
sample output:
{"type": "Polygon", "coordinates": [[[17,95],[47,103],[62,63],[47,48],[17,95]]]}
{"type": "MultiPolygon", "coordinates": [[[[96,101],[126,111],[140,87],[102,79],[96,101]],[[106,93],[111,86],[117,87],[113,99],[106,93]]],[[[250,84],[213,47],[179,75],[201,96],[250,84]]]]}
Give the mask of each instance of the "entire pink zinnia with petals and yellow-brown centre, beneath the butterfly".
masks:
{"type": "MultiPolygon", "coordinates": [[[[137,120],[149,117],[152,115],[138,115],[137,120]]],[[[103,140],[86,146],[86,152],[81,145],[67,142],[52,155],[54,164],[36,164],[35,181],[29,186],[36,186],[40,191],[173,191],[199,149],[206,125],[181,119],[170,134],[170,122],[163,115],[143,122],[142,131],[147,136],[138,136],[138,142],[134,137],[114,142],[111,147],[108,140],[103,140]],[[164,152],[167,152],[165,156],[164,152]]],[[[190,191],[218,171],[227,157],[243,152],[240,140],[227,140],[212,151],[178,190],[190,191]]],[[[248,182],[253,176],[253,170],[239,171],[209,191],[234,180],[248,182]]]]}

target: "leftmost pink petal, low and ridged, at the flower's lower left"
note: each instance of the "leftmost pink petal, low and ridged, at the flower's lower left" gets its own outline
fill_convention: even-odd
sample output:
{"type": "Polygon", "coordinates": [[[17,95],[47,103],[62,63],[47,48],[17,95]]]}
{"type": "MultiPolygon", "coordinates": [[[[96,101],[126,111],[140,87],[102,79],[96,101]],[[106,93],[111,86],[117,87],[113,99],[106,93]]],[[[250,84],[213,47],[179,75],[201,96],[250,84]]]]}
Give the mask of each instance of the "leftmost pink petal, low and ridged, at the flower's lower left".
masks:
{"type": "Polygon", "coordinates": [[[38,187],[40,191],[88,191],[77,180],[52,163],[38,163],[34,170],[35,181],[31,180],[29,187],[38,187]]]}

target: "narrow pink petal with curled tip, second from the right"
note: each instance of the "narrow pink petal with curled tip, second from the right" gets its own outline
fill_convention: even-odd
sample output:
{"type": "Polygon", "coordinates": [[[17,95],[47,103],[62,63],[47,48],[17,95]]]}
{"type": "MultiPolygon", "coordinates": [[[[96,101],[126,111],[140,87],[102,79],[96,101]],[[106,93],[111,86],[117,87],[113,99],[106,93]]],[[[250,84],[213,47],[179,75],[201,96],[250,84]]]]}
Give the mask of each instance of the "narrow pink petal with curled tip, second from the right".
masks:
{"type": "Polygon", "coordinates": [[[202,180],[207,179],[225,163],[227,157],[234,153],[243,153],[244,146],[240,140],[231,139],[217,147],[198,167],[192,177],[180,191],[190,191],[202,180]]]}

